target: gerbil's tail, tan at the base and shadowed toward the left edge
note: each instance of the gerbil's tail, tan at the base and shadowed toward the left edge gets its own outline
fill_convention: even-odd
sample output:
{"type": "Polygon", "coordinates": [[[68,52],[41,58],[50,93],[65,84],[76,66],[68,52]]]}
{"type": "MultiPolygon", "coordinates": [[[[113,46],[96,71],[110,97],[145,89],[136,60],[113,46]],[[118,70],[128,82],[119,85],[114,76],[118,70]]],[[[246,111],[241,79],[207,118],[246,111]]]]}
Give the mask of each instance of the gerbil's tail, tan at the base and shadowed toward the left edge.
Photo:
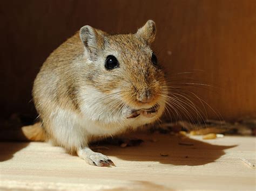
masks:
{"type": "Polygon", "coordinates": [[[37,122],[33,125],[23,126],[22,128],[5,128],[1,130],[0,140],[43,142],[46,140],[46,133],[42,127],[42,123],[37,122]]]}

